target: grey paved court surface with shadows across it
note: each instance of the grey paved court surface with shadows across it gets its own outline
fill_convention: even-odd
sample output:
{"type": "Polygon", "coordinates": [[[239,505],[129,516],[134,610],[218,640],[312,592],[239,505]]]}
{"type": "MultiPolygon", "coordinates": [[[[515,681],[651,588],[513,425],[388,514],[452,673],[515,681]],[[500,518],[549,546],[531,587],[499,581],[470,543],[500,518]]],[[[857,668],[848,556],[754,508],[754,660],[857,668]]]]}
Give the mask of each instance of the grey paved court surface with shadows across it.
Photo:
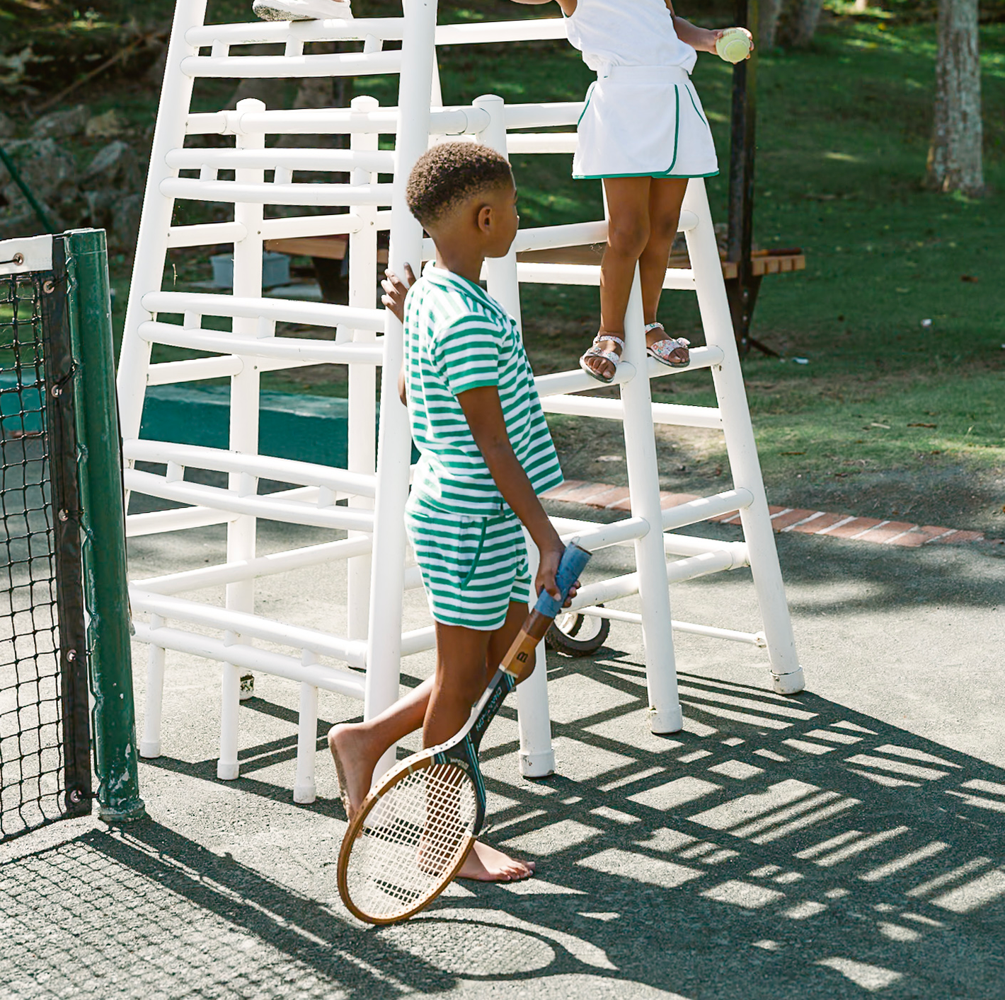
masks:
{"type": "MultiPolygon", "coordinates": [[[[216,561],[220,538],[140,539],[134,568],[216,561]]],[[[170,656],[164,755],[141,765],[150,818],[0,848],[0,997],[1000,1000],[1005,560],[778,544],[808,692],[772,694],[756,649],[681,636],[687,722],[656,737],[637,630],[614,623],[592,660],[551,658],[559,773],[518,777],[512,707],[483,755],[489,835],[540,878],[458,886],[400,927],[363,927],[338,899],[328,761],[318,801],[291,801],[295,686],[258,678],[242,775],[218,782],[218,672],[170,656]]],[[[746,571],[673,597],[678,618],[758,623],[746,571]]],[[[294,573],[263,583],[260,609],[341,629],[341,601],[338,579],[294,573]]],[[[138,650],[141,714],[143,668],[138,650]]],[[[429,668],[408,661],[406,682],[429,668]]],[[[319,746],[358,712],[323,693],[319,746]]]]}

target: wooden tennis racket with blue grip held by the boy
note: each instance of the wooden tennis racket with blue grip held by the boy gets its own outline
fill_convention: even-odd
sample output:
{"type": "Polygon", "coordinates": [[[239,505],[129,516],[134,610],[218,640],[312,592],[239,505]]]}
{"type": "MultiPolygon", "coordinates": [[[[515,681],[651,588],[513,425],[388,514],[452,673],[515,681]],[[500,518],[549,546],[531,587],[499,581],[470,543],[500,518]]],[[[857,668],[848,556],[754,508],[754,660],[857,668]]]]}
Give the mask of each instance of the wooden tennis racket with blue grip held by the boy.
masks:
{"type": "Polygon", "coordinates": [[[364,800],[339,852],[339,894],[360,920],[411,917],[464,863],[485,818],[478,744],[506,696],[534,670],[534,651],[590,554],[575,542],[566,548],[555,574],[562,599],[541,592],[460,732],[391,768],[364,800]]]}

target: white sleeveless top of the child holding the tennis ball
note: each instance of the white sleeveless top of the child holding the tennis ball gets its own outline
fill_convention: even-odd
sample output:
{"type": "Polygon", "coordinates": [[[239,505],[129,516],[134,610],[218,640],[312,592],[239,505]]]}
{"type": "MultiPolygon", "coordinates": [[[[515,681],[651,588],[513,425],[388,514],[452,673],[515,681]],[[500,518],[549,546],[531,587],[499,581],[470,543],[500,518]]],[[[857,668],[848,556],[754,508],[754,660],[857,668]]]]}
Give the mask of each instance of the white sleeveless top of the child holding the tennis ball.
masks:
{"type": "Polygon", "coordinates": [[[663,0],[579,0],[566,30],[596,72],[606,66],[679,66],[690,72],[697,58],[677,37],[663,0]]]}

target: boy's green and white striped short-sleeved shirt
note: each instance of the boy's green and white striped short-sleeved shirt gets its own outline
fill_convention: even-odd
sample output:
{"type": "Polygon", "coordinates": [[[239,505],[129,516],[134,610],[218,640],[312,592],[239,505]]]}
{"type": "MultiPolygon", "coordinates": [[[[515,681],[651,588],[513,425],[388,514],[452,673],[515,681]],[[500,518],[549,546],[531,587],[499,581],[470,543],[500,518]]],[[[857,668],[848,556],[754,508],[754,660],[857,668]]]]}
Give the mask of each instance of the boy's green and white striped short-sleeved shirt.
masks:
{"type": "Polygon", "coordinates": [[[451,513],[509,511],[457,397],[498,389],[507,433],[537,493],[562,482],[555,445],[517,324],[466,278],[426,265],[405,302],[405,381],[422,503],[451,513]]]}

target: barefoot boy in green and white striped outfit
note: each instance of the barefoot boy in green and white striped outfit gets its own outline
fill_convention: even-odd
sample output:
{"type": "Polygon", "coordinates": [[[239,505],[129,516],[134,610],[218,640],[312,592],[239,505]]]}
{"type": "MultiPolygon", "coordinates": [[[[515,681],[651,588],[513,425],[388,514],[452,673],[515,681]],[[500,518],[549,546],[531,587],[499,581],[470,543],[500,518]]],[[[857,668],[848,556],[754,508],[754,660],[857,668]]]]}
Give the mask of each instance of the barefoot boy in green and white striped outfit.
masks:
{"type": "MultiPolygon", "coordinates": [[[[402,388],[421,456],[405,523],[435,619],[436,671],[376,718],[329,733],[350,815],[389,746],[420,725],[423,746],[434,746],[467,721],[528,613],[523,527],[541,553],[537,587],[555,597],[564,548],[538,500],[562,471],[531,365],[517,324],[477,284],[484,258],[506,256],[517,235],[510,165],[472,143],[435,146],[416,163],[407,201],[436,259],[410,288],[389,272],[384,302],[405,325],[402,388]]],[[[458,872],[533,873],[533,861],[480,841],[458,872]]]]}

